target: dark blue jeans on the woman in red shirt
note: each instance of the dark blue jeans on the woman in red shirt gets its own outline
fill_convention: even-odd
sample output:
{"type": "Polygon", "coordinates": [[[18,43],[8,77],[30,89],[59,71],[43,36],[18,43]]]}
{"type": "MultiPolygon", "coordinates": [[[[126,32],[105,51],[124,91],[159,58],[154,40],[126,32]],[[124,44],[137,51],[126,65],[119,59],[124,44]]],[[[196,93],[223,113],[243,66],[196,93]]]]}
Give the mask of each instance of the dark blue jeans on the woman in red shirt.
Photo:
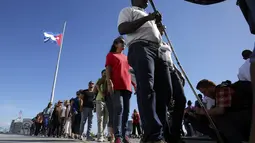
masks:
{"type": "Polygon", "coordinates": [[[126,135],[130,98],[131,92],[127,90],[116,90],[112,95],[114,114],[113,130],[115,137],[121,138],[126,135]]]}

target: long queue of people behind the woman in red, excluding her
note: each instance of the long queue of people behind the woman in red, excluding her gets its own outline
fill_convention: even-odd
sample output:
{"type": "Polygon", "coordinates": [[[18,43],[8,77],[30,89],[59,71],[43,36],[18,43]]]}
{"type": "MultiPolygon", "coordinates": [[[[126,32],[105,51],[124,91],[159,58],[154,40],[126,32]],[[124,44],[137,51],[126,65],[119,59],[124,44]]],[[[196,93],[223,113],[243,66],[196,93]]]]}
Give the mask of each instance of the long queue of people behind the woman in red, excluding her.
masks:
{"type": "MultiPolygon", "coordinates": [[[[96,87],[94,88],[94,83],[90,81],[89,88],[77,91],[76,98],[65,100],[64,103],[58,101],[53,108],[52,103],[49,103],[43,112],[37,114],[33,119],[34,126],[31,127],[31,134],[35,136],[40,134],[48,137],[53,136],[73,139],[83,139],[86,137],[87,141],[93,141],[94,136],[91,134],[91,128],[93,112],[96,112],[98,121],[97,141],[106,141],[106,137],[112,140],[114,134],[112,132],[113,129],[109,120],[107,108],[107,105],[109,106],[111,102],[106,101],[108,97],[105,97],[103,93],[104,82],[102,82],[102,80],[105,79],[105,76],[106,72],[103,70],[102,78],[98,80],[96,87]],[[97,88],[100,87],[101,91],[98,91],[97,88]],[[88,128],[86,134],[84,134],[86,121],[88,121],[88,128]],[[108,136],[104,134],[107,125],[108,136]]],[[[132,114],[132,119],[132,137],[140,137],[142,135],[140,116],[136,109],[132,114]],[[138,131],[138,134],[136,134],[136,131],[138,131]]]]}

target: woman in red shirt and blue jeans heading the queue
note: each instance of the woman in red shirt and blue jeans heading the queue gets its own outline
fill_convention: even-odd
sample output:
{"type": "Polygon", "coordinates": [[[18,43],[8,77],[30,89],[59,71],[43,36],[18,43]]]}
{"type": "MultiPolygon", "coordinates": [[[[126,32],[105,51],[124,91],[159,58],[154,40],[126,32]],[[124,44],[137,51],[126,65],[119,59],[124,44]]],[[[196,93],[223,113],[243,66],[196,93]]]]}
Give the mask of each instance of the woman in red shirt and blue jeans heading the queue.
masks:
{"type": "Polygon", "coordinates": [[[118,37],[113,41],[112,47],[106,56],[106,80],[109,95],[113,101],[113,130],[115,143],[129,143],[126,136],[127,121],[131,98],[131,75],[127,56],[123,54],[125,41],[118,37]]]}

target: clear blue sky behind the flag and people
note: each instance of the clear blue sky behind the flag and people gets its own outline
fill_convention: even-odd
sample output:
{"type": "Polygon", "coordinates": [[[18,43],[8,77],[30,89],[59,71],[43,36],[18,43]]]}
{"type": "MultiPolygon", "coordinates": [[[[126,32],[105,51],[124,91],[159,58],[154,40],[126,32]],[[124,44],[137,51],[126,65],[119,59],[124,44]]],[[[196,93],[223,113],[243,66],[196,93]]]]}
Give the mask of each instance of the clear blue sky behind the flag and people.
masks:
{"type": "MultiPolygon", "coordinates": [[[[203,78],[216,83],[237,80],[243,49],[254,37],[235,1],[199,6],[183,0],[157,0],[156,6],[177,55],[193,85],[203,78]]],[[[61,32],[67,21],[55,101],[70,99],[96,81],[117,32],[119,11],[130,0],[1,0],[0,126],[33,117],[48,103],[58,47],[43,43],[44,31],[61,32]]],[[[149,8],[148,11],[151,11],[149,8]]],[[[186,85],[188,99],[194,95],[186,85]]],[[[131,99],[131,111],[137,108],[131,99]]],[[[93,131],[96,132],[96,117],[93,131]]]]}

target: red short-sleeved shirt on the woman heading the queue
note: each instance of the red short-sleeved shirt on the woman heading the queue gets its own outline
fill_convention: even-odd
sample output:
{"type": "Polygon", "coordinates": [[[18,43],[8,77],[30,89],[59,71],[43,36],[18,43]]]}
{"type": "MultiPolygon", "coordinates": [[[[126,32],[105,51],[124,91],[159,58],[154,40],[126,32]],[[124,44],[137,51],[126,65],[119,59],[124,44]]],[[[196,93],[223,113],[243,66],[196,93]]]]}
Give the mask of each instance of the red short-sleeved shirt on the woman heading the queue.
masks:
{"type": "Polygon", "coordinates": [[[126,55],[109,53],[106,56],[105,66],[110,66],[112,68],[111,80],[114,90],[128,90],[132,92],[131,75],[128,72],[130,66],[126,55]]]}

